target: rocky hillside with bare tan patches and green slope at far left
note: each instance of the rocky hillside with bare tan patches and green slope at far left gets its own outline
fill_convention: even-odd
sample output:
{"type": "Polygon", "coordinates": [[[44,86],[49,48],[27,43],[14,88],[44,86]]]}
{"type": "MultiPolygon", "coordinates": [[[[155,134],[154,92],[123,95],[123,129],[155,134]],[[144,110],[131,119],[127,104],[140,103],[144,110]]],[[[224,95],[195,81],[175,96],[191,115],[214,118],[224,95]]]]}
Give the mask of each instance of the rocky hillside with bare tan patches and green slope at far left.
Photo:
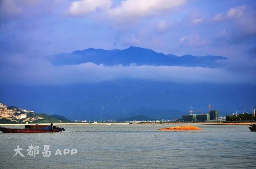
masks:
{"type": "Polygon", "coordinates": [[[35,113],[28,109],[22,109],[15,106],[6,106],[0,102],[0,123],[59,123],[70,122],[64,116],[47,115],[44,113],[35,113]]]}

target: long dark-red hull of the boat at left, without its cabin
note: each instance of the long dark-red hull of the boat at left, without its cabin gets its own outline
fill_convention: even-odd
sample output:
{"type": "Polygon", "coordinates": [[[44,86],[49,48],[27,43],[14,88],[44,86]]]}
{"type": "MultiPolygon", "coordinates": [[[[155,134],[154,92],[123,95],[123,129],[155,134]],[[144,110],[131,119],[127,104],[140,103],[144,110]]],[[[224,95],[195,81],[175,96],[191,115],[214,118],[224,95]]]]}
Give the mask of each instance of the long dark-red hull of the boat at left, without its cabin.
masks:
{"type": "Polygon", "coordinates": [[[52,132],[65,131],[65,129],[56,128],[51,130],[34,130],[34,129],[11,129],[11,128],[0,127],[0,131],[3,133],[52,133],[52,132]]]}

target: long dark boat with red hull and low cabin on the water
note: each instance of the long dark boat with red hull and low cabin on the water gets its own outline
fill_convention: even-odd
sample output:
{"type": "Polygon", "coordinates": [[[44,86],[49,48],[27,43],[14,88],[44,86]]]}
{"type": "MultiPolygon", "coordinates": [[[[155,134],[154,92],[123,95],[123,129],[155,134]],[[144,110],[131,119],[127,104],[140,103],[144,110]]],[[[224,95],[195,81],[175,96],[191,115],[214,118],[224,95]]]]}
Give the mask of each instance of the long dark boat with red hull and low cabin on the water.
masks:
{"type": "Polygon", "coordinates": [[[51,125],[25,125],[25,129],[11,129],[0,127],[0,131],[3,133],[48,133],[48,132],[65,132],[64,128],[59,128],[58,126],[51,125]]]}

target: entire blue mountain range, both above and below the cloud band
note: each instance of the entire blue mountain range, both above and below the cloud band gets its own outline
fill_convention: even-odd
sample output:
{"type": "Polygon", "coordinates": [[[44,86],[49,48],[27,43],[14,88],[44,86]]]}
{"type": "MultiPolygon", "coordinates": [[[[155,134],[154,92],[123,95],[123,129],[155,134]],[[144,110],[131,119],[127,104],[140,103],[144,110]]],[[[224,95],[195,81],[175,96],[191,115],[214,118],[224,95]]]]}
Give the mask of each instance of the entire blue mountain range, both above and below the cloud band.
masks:
{"type": "MultiPolygon", "coordinates": [[[[87,62],[113,66],[122,64],[168,65],[218,68],[223,56],[176,56],[150,49],[124,50],[89,48],[47,57],[55,66],[87,62]]],[[[256,103],[256,86],[244,83],[174,83],[122,78],[67,85],[2,85],[0,100],[36,112],[57,114],[71,120],[120,120],[142,115],[151,119],[181,119],[190,109],[208,113],[208,105],[220,115],[251,111],[256,103]]]]}

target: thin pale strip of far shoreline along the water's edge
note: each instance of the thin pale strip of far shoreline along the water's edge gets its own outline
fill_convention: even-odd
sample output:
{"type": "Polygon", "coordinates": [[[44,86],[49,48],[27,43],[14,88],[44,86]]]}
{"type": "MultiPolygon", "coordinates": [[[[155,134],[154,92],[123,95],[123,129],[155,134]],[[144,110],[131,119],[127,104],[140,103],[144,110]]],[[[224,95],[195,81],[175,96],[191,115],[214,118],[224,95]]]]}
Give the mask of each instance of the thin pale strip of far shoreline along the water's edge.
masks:
{"type": "MultiPolygon", "coordinates": [[[[250,125],[253,122],[241,122],[241,123],[162,123],[164,125],[250,125]]],[[[49,123],[29,123],[29,124],[24,124],[24,123],[20,123],[20,124],[0,124],[1,125],[50,125],[49,123]]],[[[129,124],[129,123],[54,123],[54,125],[159,125],[161,123],[133,123],[133,124],[129,124]]]]}

